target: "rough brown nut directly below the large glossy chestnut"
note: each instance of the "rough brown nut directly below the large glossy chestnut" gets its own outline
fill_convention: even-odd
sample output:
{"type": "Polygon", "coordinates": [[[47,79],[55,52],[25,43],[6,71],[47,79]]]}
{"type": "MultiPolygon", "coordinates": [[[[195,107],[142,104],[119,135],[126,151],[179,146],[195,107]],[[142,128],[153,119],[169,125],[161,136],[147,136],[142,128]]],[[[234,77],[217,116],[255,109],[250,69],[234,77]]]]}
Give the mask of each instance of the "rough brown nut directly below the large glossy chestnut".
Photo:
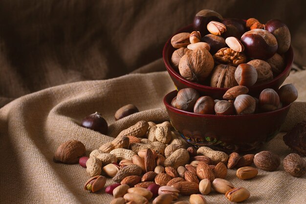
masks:
{"type": "Polygon", "coordinates": [[[273,72],[269,63],[263,60],[251,60],[247,64],[252,65],[257,71],[257,81],[255,84],[262,84],[273,79],[273,72]]]}

